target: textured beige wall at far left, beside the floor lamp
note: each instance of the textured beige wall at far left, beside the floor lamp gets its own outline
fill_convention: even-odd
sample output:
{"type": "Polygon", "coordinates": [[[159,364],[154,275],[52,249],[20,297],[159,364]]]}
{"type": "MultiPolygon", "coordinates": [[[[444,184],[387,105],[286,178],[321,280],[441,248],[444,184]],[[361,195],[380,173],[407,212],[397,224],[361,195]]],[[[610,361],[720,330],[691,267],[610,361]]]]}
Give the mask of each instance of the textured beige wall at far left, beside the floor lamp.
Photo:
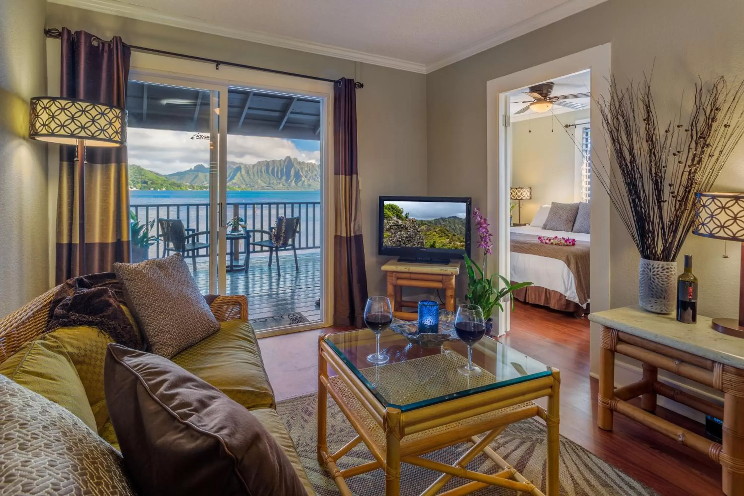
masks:
{"type": "Polygon", "coordinates": [[[28,100],[46,92],[45,0],[0,1],[0,317],[48,289],[46,146],[28,100]]]}

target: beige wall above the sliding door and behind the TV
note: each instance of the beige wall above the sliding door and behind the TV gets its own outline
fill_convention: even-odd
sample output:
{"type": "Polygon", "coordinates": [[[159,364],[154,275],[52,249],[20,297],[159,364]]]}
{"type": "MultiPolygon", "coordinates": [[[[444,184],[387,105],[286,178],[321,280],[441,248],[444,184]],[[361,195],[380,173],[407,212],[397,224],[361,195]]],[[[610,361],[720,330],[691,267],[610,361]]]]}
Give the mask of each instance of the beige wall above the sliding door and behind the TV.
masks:
{"type": "Polygon", "coordinates": [[[121,36],[132,45],[275,68],[320,77],[353,77],[357,91],[359,183],[371,294],[384,294],[376,256],[377,196],[426,194],[426,76],[377,65],[155,25],[134,19],[48,4],[46,24],[121,36]]]}

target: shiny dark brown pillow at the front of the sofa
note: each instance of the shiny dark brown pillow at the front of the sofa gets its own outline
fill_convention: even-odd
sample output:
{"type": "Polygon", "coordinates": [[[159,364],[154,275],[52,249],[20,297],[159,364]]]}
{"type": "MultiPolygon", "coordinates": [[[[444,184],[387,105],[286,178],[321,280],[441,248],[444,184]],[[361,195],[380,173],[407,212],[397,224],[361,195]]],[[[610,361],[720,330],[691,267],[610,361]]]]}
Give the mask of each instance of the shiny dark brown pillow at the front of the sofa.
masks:
{"type": "Polygon", "coordinates": [[[251,412],[167,358],[112,343],[104,376],[124,466],[140,495],[307,496],[251,412]]]}

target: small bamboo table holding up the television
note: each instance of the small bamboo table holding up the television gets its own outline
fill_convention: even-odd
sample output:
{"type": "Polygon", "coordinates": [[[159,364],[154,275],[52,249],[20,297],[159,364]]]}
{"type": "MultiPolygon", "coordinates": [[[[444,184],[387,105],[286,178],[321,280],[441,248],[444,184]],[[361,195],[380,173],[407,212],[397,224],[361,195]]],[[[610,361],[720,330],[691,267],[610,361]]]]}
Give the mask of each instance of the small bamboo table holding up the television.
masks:
{"type": "Polygon", "coordinates": [[[443,289],[444,308],[455,312],[455,277],[460,274],[460,260],[448,264],[406,263],[393,260],[382,265],[388,273],[388,298],[393,306],[393,316],[404,321],[415,321],[417,312],[404,312],[405,307],[418,308],[417,301],[403,300],[403,286],[443,289]]]}

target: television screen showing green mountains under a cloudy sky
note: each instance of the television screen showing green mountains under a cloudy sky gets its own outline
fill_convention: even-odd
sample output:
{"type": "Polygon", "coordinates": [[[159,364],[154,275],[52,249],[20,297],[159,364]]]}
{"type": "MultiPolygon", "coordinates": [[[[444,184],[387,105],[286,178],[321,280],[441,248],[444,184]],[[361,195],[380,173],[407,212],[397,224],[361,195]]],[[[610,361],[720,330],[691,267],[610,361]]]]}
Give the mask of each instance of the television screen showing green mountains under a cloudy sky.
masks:
{"type": "Polygon", "coordinates": [[[463,204],[386,202],[382,218],[383,245],[464,250],[465,216],[460,210],[463,204]]]}

